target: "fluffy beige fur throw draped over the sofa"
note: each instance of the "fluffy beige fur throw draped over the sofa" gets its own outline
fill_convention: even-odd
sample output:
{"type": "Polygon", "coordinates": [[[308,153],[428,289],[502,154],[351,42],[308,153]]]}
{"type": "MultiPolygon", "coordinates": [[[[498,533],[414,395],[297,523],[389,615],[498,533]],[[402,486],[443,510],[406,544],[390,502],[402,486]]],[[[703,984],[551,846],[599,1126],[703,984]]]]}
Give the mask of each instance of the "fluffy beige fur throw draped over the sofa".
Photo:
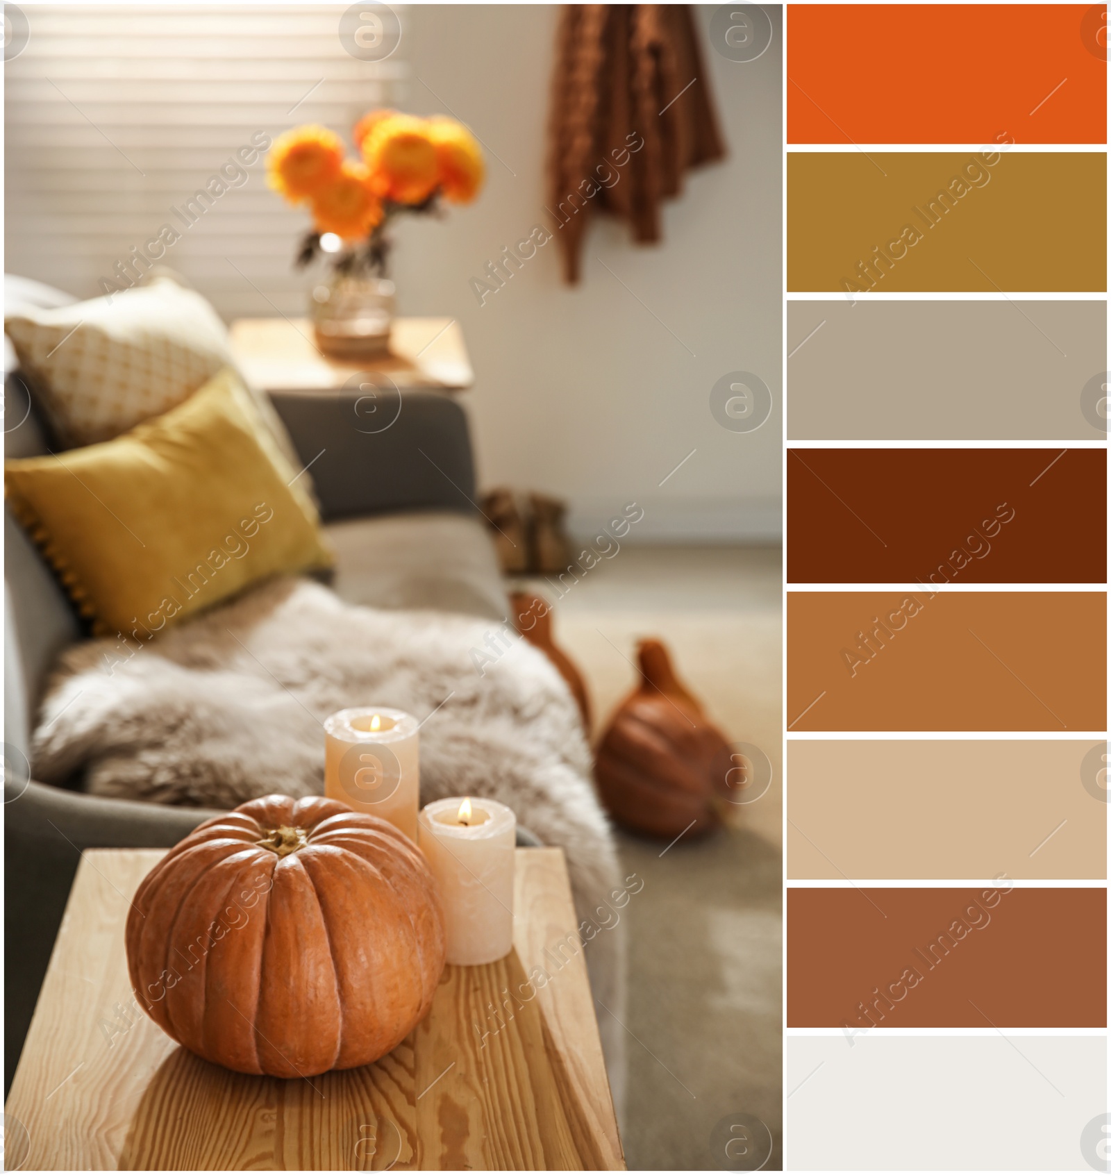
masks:
{"type": "MultiPolygon", "coordinates": [[[[575,704],[524,640],[491,664],[490,632],[490,622],[358,607],[307,579],[275,579],[146,645],[90,640],[63,653],[33,739],[34,778],[80,773],[97,795],[217,808],[319,794],[324,718],[396,706],[424,719],[422,805],[466,794],[509,805],[566,853],[579,919],[612,925],[618,859],[575,704]]],[[[624,1019],[620,933],[583,936],[594,994],[624,1019]]],[[[599,1026],[617,1095],[621,1029],[604,1012],[599,1026]]]]}

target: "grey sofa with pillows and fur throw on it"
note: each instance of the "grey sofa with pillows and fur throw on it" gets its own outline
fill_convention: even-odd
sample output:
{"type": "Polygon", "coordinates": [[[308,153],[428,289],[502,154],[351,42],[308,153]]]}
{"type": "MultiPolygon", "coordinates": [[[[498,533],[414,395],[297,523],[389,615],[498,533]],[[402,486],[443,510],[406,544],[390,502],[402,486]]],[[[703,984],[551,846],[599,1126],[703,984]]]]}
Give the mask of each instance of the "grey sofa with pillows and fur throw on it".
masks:
{"type": "MultiPolygon", "coordinates": [[[[16,280],[15,300],[65,304],[67,295],[16,280]],[[62,300],[62,301],[60,301],[62,300]]],[[[7,340],[5,340],[7,343],[7,340]]],[[[5,455],[53,449],[34,390],[6,368],[5,455]]],[[[335,590],[378,607],[437,607],[500,620],[509,611],[493,546],[473,499],[466,417],[437,391],[403,394],[396,423],[361,431],[352,400],[311,392],[274,407],[311,469],[336,549],[335,590]]],[[[5,1089],[23,1038],[80,853],[93,847],[176,844],[213,812],[100,799],[38,784],[28,750],[51,664],[82,630],[53,573],[5,512],[5,1089]]]]}

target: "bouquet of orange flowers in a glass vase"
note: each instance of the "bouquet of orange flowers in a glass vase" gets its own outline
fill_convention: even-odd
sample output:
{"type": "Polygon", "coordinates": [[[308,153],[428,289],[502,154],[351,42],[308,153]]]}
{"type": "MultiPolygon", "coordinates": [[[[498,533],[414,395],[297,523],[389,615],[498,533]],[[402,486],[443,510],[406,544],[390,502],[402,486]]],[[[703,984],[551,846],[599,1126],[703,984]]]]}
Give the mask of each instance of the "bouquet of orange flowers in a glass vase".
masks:
{"type": "Polygon", "coordinates": [[[354,357],[389,343],[390,222],[403,213],[437,215],[443,201],[470,203],[485,168],[474,136],[455,119],[371,110],[352,139],[358,159],[325,127],[287,130],[267,155],[267,180],[312,216],[297,264],[324,255],[332,268],[330,283],[312,291],[317,340],[354,357]]]}

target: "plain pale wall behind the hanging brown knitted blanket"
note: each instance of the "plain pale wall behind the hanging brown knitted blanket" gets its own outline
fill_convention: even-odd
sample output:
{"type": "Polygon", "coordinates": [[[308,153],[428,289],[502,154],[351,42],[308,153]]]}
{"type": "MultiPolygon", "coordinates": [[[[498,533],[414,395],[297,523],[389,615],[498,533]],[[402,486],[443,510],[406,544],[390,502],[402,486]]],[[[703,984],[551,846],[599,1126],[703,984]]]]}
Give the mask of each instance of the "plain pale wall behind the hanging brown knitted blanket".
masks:
{"type": "Polygon", "coordinates": [[[700,7],[696,18],[727,161],[689,174],[666,206],[661,244],[633,246],[624,224],[595,217],[578,287],[563,284],[553,241],[480,307],[470,278],[501,246],[551,223],[544,164],[558,11],[408,9],[405,107],[450,107],[487,145],[489,170],[474,204],[400,230],[400,307],[463,324],[483,485],[563,496],[579,531],[635,499],[646,513],[631,539],[779,533],[782,9],[768,9],[773,45],[750,63],[711,47],[713,11],[700,7]],[[714,382],[735,370],[756,372],[773,391],[773,414],[752,434],[709,412],[714,382]]]}

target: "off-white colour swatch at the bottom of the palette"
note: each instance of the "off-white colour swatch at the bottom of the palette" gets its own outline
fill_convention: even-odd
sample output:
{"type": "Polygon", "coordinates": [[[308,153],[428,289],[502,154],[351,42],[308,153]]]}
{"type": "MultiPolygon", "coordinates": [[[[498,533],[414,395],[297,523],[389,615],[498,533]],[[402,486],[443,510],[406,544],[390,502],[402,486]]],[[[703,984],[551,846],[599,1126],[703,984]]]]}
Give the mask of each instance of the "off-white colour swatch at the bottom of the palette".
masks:
{"type": "MultiPolygon", "coordinates": [[[[991,993],[977,994],[990,1016],[991,993]]],[[[1001,1027],[1005,1039],[786,1038],[787,1169],[1089,1170],[1080,1140],[1107,1108],[1105,1038],[1001,1027]]]]}

